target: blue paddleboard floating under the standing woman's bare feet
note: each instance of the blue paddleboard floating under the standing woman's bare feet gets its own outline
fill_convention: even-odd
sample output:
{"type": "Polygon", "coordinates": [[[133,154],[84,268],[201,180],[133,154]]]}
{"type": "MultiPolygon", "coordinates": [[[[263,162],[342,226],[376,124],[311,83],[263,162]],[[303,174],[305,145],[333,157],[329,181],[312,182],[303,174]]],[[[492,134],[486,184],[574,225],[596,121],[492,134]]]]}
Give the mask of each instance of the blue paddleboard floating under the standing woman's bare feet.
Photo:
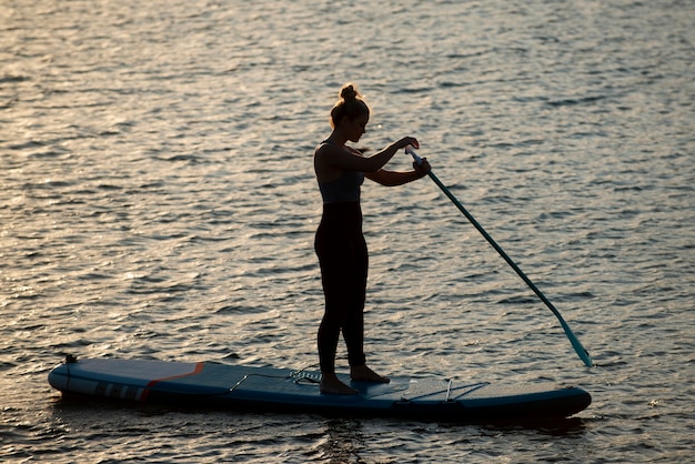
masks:
{"type": "Polygon", "coordinates": [[[48,380],[63,395],[132,403],[467,423],[568,417],[591,404],[591,395],[582,389],[548,384],[407,376],[381,384],[339,377],[359,394],[322,394],[321,373],[315,371],[214,362],[68,356],[50,371],[48,380]]]}

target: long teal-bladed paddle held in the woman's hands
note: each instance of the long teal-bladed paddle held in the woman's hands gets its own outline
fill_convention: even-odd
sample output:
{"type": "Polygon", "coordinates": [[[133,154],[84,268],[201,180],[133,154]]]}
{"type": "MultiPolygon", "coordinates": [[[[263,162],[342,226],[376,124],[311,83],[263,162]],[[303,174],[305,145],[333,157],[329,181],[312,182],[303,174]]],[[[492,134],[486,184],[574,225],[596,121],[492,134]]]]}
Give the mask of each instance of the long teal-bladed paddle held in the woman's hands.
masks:
{"type": "MultiPolygon", "coordinates": [[[[422,159],[417,155],[417,153],[415,153],[415,151],[413,150],[412,147],[406,147],[405,148],[405,152],[407,154],[412,155],[417,164],[422,163],[422,159]]],[[[471,215],[471,213],[469,213],[466,211],[466,209],[463,208],[463,204],[461,204],[461,202],[459,200],[456,200],[456,198],[453,195],[453,193],[451,193],[449,191],[449,189],[437,179],[437,176],[434,175],[434,173],[432,171],[427,172],[427,175],[430,175],[430,179],[432,179],[434,181],[434,183],[437,184],[437,186],[440,189],[442,189],[442,192],[444,192],[444,194],[446,196],[449,196],[449,199],[452,201],[452,203],[454,203],[456,205],[456,208],[459,208],[459,210],[463,213],[463,215],[465,215],[467,218],[467,220],[471,221],[471,223],[475,226],[475,229],[477,229],[477,231],[483,234],[485,240],[487,240],[487,242],[490,242],[490,244],[497,251],[497,253],[500,253],[500,255],[502,258],[504,258],[504,260],[507,262],[507,264],[511,265],[514,271],[516,271],[518,276],[522,278],[522,280],[524,282],[526,282],[526,285],[528,285],[531,288],[531,290],[533,290],[534,293],[536,295],[538,295],[541,301],[543,303],[545,303],[545,305],[547,307],[550,307],[550,310],[553,312],[553,314],[555,314],[555,316],[560,321],[560,324],[562,325],[563,330],[565,331],[565,334],[567,335],[567,339],[570,339],[570,343],[572,343],[572,346],[574,347],[574,351],[576,351],[576,354],[578,354],[580,359],[582,361],[584,361],[584,364],[586,364],[588,367],[594,365],[594,363],[592,361],[592,357],[590,356],[588,352],[584,349],[584,346],[582,346],[582,343],[580,343],[580,340],[576,337],[574,332],[572,332],[572,329],[570,329],[570,325],[567,325],[567,323],[562,317],[560,312],[555,309],[553,303],[551,303],[550,300],[546,299],[545,295],[538,290],[538,288],[533,282],[531,282],[531,279],[528,279],[526,276],[526,274],[524,274],[522,272],[522,270],[514,263],[514,261],[512,261],[512,259],[504,252],[504,250],[502,250],[502,248],[492,239],[492,236],[490,236],[490,234],[475,220],[475,218],[473,218],[471,215]]]]}

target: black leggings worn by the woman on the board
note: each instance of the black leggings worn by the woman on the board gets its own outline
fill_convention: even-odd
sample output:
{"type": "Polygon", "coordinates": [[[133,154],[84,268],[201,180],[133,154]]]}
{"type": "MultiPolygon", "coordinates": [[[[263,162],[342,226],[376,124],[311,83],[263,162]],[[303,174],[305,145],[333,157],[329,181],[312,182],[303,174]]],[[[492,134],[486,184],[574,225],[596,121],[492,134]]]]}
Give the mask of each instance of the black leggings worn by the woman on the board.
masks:
{"type": "Polygon", "coordinates": [[[325,296],[325,312],[319,326],[321,371],[335,372],[341,330],[350,365],[362,365],[365,363],[363,311],[369,256],[362,235],[360,202],[323,205],[314,249],[325,296]]]}

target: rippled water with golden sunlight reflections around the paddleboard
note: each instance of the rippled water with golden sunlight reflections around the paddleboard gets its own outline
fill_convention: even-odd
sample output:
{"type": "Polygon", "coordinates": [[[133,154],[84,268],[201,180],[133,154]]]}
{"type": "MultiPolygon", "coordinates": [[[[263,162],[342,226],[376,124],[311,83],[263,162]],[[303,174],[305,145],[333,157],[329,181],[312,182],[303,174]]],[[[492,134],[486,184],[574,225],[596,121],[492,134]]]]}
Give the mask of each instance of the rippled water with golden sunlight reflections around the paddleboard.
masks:
{"type": "Polygon", "coordinates": [[[2,461],[689,458],[692,2],[6,0],[0,18],[2,461]],[[575,384],[590,408],[524,428],[61,402],[46,377],[68,352],[316,363],[311,152],[349,80],[364,144],[417,137],[597,364],[424,179],[364,188],[372,366],[575,384]]]}

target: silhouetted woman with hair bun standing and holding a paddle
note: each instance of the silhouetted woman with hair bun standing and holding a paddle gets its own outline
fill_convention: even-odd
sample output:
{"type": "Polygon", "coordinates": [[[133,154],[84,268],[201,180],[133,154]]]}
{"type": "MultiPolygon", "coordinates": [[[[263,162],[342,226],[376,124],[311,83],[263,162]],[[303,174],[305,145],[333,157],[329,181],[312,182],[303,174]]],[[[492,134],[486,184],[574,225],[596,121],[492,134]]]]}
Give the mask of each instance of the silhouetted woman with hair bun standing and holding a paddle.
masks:
{"type": "Polygon", "coordinates": [[[314,171],[323,198],[323,215],[316,231],[315,251],[321,265],[325,312],[319,326],[321,392],[355,394],[335,375],[335,352],[340,332],[348,345],[350,377],[362,382],[387,383],[366,366],[364,356],[364,302],[367,274],[367,251],[362,234],[360,185],[367,178],[382,185],[402,185],[421,179],[430,170],[423,160],[415,170],[383,170],[391,158],[407,145],[419,148],[417,140],[406,137],[365,157],[346,147],[357,142],[365,132],[370,109],[353,84],[341,89],[340,100],[331,110],[333,132],[314,151],[314,171]]]}

